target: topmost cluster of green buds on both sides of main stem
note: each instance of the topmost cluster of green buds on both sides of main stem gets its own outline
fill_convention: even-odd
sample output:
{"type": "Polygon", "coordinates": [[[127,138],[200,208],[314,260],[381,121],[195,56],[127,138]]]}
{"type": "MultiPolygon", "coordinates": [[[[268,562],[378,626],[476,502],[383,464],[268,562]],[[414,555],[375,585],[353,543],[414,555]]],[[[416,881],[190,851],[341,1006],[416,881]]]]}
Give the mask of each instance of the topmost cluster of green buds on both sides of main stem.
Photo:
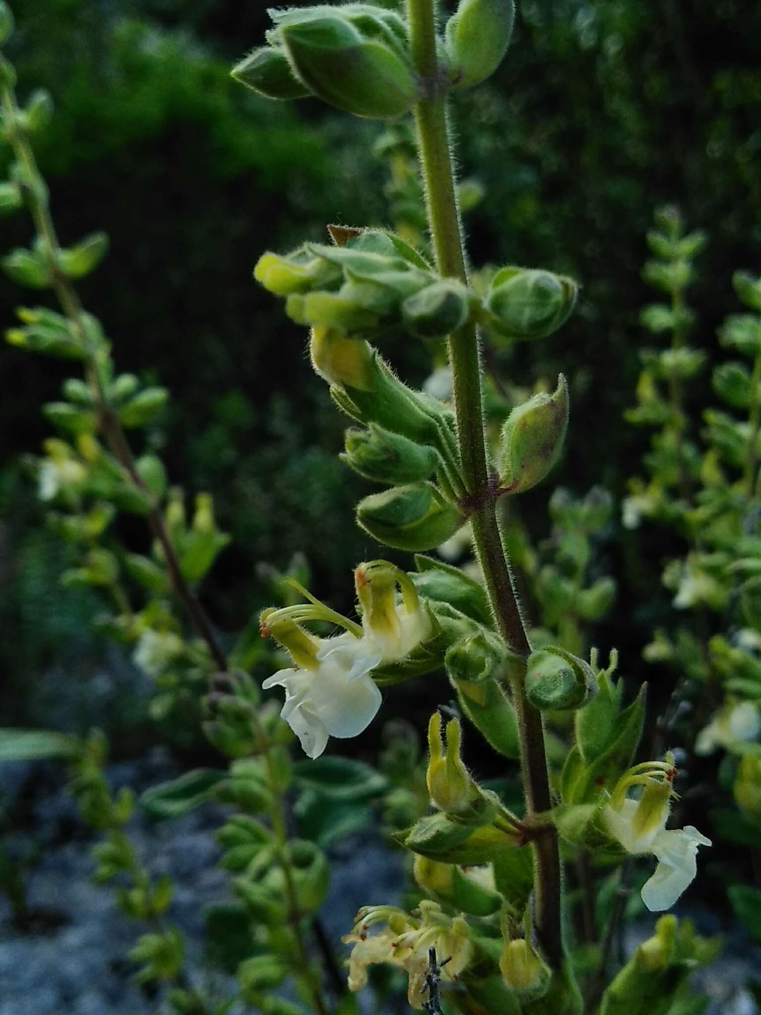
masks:
{"type": "Polygon", "coordinates": [[[317,95],[346,113],[393,119],[433,86],[479,84],[497,69],[512,33],[512,0],[461,0],[439,42],[435,82],[416,73],[407,22],[366,3],[270,11],[268,45],[233,70],[236,80],[267,98],[317,95]]]}

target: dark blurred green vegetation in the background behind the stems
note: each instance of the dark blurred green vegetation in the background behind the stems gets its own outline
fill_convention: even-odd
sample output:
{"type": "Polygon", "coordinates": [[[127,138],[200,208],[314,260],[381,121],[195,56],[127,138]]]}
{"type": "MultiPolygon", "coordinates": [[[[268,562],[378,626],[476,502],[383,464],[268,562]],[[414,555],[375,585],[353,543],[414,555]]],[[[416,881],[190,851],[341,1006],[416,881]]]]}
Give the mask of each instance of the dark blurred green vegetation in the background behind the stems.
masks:
{"type": "MultiPolygon", "coordinates": [[[[254,0],[16,0],[14,10],[19,92],[45,86],[56,100],[39,153],[62,241],[97,228],[112,238],[84,302],[120,367],[171,390],[150,439],[174,480],[214,492],[233,536],[204,589],[209,612],[239,629],[266,603],[257,562],[283,566],[297,549],[315,591],[347,608],[351,566],[376,553],[352,521],[364,487],[336,457],[344,420],[312,374],[302,331],[252,269],[266,248],[322,239],[326,222],[385,221],[385,167],[371,153],[380,125],[313,101],[260,101],[230,81],[268,23],[254,0]]],[[[572,423],[555,478],[577,492],[603,483],[620,495],[640,471],[646,434],[622,411],[644,341],[638,310],[652,297],[639,272],[653,207],[676,201],[708,230],[693,302],[696,344],[711,355],[735,309],[732,271],[758,270],[759,39],[761,8],[742,0],[518,0],[503,67],[458,98],[462,168],[488,195],[469,219],[474,262],[567,271],[583,286],[571,322],[512,364],[522,383],[569,376],[572,423]]],[[[29,239],[21,216],[2,221],[4,249],[29,239]]],[[[28,298],[0,280],[0,319],[10,325],[28,298]]],[[[422,382],[419,348],[389,351],[422,382]]],[[[58,591],[65,555],[22,462],[48,435],[40,405],[68,373],[0,348],[2,725],[50,721],[64,693],[43,680],[53,670],[79,688],[68,725],[85,727],[88,680],[102,669],[87,626],[95,603],[58,591]]],[[[537,537],[550,491],[527,513],[537,537]]],[[[638,556],[623,537],[604,548],[601,567],[626,573],[597,640],[623,650],[636,681],[666,602],[653,581],[668,549],[658,537],[638,556]]],[[[126,695],[114,709],[122,749],[140,739],[131,708],[126,695]]]]}

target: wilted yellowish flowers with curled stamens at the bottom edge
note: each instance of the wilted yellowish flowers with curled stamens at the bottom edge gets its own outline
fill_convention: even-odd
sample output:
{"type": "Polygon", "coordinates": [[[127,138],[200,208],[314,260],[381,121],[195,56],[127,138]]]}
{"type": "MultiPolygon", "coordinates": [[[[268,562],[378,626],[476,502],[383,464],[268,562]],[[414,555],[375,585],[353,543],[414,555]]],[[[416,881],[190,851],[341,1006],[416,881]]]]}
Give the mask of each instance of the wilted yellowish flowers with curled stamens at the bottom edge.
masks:
{"type": "Polygon", "coordinates": [[[463,916],[447,917],[430,899],[423,899],[412,915],[390,905],[363,906],[356,924],[343,938],[351,944],[349,990],[360,991],[367,983],[367,966],[386,962],[409,976],[407,1000],[421,1011],[427,1000],[428,950],[433,948],[441,962],[442,984],[457,983],[473,958],[470,928],[463,916]],[[385,924],[374,934],[375,925],[385,924]]]}

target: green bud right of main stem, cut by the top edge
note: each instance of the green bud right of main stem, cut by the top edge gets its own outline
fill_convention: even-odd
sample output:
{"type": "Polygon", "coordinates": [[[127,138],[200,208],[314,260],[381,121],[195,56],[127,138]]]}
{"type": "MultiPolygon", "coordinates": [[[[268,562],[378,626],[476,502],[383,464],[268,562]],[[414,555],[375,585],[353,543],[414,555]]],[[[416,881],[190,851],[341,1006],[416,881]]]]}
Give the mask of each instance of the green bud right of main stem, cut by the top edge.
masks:
{"type": "Polygon", "coordinates": [[[514,15],[512,0],[460,0],[446,23],[453,87],[470,87],[491,77],[507,52],[514,15]]]}

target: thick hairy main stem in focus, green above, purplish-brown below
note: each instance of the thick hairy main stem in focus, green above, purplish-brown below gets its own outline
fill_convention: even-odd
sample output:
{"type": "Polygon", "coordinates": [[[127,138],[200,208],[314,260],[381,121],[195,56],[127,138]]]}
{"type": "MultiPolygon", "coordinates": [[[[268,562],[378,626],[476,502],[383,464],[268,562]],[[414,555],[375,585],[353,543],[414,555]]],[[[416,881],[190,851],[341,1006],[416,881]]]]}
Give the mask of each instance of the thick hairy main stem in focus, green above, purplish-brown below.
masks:
{"type": "MultiPolygon", "coordinates": [[[[408,0],[408,16],[413,61],[425,88],[425,96],[415,107],[415,120],[436,264],[442,276],[467,283],[446,98],[436,58],[434,0],[408,0]]],[[[527,810],[532,814],[547,811],[551,806],[544,729],[542,717],[529,704],[524,686],[531,646],[521,617],[489,483],[475,325],[467,324],[449,336],[449,362],[454,377],[462,474],[468,506],[472,511],[476,551],[499,631],[510,651],[523,662],[523,665],[514,667],[510,682],[521,729],[527,810]]],[[[550,828],[543,833],[535,841],[534,849],[535,927],[548,962],[552,967],[559,968],[563,957],[560,857],[554,830],[550,828]]]]}

